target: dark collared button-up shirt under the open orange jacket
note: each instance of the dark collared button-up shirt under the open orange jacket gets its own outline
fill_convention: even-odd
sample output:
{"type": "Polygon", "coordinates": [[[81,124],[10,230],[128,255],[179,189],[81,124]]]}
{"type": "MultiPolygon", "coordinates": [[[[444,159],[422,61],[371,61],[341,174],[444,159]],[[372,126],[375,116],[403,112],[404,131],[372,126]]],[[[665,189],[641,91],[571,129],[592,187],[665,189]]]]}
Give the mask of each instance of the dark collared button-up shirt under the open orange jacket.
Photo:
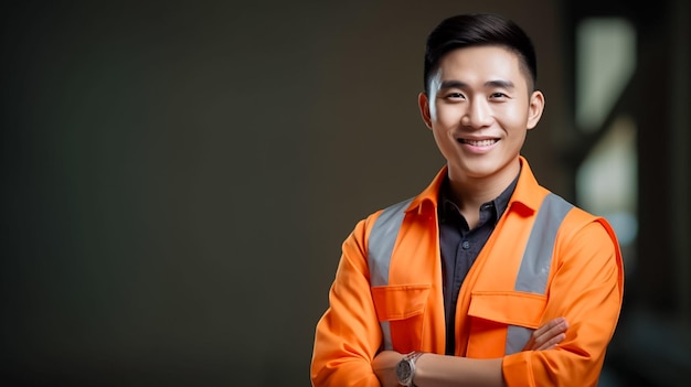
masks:
{"type": "Polygon", "coordinates": [[[442,250],[442,275],[444,277],[444,311],[446,314],[446,354],[453,355],[456,342],[456,303],[460,286],[468,275],[478,254],[495,230],[497,222],[507,209],[518,176],[493,201],[479,208],[480,221],[470,229],[468,222],[453,201],[448,178],[439,191],[439,247],[442,250]]]}

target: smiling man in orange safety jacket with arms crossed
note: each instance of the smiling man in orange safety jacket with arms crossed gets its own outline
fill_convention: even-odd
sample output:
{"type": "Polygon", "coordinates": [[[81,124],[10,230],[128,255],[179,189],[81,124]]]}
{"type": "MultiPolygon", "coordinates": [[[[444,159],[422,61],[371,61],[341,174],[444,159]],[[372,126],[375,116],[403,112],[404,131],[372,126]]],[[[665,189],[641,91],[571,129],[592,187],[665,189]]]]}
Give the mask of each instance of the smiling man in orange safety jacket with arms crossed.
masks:
{"type": "Polygon", "coordinates": [[[621,256],[607,222],[540,186],[520,154],[544,107],[535,62],[499,15],[429,34],[418,105],[446,165],[343,243],[315,386],[597,385],[621,256]]]}

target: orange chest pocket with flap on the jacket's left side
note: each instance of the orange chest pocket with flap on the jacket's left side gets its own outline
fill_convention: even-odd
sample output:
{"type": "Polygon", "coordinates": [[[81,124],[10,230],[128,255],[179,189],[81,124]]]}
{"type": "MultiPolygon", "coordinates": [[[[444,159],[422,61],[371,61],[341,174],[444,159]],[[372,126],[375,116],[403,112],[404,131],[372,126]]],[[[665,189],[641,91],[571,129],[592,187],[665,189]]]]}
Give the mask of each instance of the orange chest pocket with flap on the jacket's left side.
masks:
{"type": "Polygon", "coordinates": [[[372,287],[372,300],[382,330],[389,330],[393,350],[419,351],[430,286],[372,287]]]}

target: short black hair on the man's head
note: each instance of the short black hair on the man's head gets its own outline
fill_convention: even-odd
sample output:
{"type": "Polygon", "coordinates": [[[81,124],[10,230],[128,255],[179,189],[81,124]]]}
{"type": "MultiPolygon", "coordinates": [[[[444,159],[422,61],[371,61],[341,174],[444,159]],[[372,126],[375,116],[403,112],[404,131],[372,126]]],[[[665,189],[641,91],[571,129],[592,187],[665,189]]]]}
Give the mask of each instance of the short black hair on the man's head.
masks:
{"type": "Polygon", "coordinates": [[[429,77],[449,51],[469,46],[498,45],[514,52],[524,71],[529,89],[538,82],[533,43],[515,22],[496,13],[465,13],[443,20],[427,36],[424,87],[429,95],[429,77]]]}

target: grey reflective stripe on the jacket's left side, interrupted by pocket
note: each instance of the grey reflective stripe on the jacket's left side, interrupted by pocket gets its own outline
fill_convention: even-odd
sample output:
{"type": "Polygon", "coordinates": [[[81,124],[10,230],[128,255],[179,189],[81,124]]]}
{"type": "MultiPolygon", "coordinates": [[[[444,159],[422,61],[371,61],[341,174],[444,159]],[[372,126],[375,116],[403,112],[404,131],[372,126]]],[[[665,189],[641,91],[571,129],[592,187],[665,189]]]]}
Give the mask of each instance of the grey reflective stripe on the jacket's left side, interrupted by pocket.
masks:
{"type": "MultiPolygon", "coordinates": [[[[368,240],[368,265],[370,267],[370,284],[372,287],[385,287],[389,284],[389,264],[393,254],[393,247],[398,236],[398,230],[405,217],[405,209],[413,198],[384,208],[374,221],[368,240]]],[[[384,350],[393,350],[391,342],[391,329],[389,321],[380,321],[384,336],[384,350]]]]}

